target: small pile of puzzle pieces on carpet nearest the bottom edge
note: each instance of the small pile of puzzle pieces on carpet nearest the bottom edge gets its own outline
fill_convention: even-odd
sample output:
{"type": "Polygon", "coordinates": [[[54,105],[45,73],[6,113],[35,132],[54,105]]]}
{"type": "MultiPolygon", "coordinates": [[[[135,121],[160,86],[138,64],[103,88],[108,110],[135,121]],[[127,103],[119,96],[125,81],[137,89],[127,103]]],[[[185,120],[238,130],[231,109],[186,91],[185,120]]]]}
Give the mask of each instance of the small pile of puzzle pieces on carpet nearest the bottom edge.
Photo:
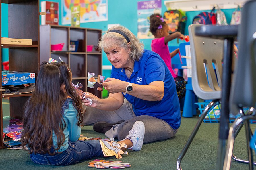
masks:
{"type": "Polygon", "coordinates": [[[124,163],[122,161],[105,161],[95,159],[94,161],[88,162],[89,167],[96,167],[98,169],[123,169],[125,167],[131,167],[129,163],[124,163]]]}

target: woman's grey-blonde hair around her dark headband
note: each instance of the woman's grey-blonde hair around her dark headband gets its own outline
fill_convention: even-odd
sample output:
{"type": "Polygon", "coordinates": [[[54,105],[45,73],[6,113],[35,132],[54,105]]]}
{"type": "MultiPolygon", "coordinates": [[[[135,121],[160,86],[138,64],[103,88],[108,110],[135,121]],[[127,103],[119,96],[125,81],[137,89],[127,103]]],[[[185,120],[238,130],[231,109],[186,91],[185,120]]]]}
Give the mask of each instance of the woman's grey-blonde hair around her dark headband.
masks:
{"type": "Polygon", "coordinates": [[[124,26],[113,26],[108,29],[107,33],[101,37],[101,40],[98,43],[98,47],[102,51],[110,50],[113,47],[123,47],[127,50],[131,50],[129,54],[130,58],[134,61],[139,61],[142,53],[144,52],[144,45],[139,41],[139,39],[127,28],[124,26]],[[119,30],[123,32],[131,42],[131,45],[128,46],[127,39],[120,33],[109,32],[110,30],[119,30]]]}

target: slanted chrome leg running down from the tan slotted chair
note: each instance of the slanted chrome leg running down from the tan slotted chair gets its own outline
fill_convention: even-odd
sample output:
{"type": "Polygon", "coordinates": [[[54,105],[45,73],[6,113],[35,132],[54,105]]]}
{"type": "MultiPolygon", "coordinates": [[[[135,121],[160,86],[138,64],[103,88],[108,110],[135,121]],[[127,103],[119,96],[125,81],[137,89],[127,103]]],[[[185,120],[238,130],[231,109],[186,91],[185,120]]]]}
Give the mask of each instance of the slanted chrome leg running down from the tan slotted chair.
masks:
{"type": "Polygon", "coordinates": [[[205,118],[207,112],[208,112],[209,109],[210,109],[212,106],[214,106],[217,102],[219,102],[219,100],[212,100],[212,102],[210,102],[210,103],[205,107],[205,110],[203,111],[201,117],[200,117],[199,120],[197,121],[197,124],[195,125],[194,130],[192,131],[192,133],[191,133],[189,139],[187,140],[187,143],[185,144],[183,150],[181,151],[181,153],[180,153],[180,155],[179,155],[179,157],[178,157],[178,160],[177,160],[177,169],[178,169],[178,170],[181,170],[181,169],[182,169],[182,168],[181,168],[181,160],[182,160],[182,158],[185,156],[185,154],[186,154],[186,152],[187,152],[187,150],[188,150],[188,148],[189,148],[191,142],[193,141],[195,135],[197,134],[197,131],[198,131],[198,129],[199,129],[201,123],[203,122],[203,120],[204,120],[204,118],[205,118]]]}

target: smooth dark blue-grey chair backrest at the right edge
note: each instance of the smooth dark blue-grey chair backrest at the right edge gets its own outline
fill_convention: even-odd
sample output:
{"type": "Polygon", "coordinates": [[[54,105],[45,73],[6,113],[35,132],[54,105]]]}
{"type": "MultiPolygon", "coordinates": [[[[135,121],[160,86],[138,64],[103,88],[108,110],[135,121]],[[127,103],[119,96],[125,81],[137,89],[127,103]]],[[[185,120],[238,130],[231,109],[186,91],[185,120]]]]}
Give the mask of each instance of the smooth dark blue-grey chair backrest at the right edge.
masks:
{"type": "MultiPolygon", "coordinates": [[[[232,82],[231,103],[256,108],[256,0],[247,1],[238,28],[238,62],[232,82]]],[[[236,108],[231,108],[233,113],[236,108]]]]}

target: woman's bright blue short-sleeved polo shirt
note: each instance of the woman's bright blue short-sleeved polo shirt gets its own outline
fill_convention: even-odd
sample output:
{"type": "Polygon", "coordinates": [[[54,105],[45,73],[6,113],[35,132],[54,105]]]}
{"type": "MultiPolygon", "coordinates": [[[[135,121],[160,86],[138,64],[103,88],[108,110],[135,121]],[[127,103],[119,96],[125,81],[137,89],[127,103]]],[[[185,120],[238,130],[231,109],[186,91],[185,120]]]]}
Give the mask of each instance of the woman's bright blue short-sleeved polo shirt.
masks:
{"type": "Polygon", "coordinates": [[[139,85],[163,81],[164,97],[161,101],[142,100],[125,93],[123,96],[133,105],[136,116],[153,116],[166,121],[174,129],[179,128],[181,115],[176,85],[169,69],[158,54],[144,50],[141,59],[134,62],[130,78],[126,76],[124,68],[115,68],[114,66],[112,66],[111,77],[139,85]]]}

